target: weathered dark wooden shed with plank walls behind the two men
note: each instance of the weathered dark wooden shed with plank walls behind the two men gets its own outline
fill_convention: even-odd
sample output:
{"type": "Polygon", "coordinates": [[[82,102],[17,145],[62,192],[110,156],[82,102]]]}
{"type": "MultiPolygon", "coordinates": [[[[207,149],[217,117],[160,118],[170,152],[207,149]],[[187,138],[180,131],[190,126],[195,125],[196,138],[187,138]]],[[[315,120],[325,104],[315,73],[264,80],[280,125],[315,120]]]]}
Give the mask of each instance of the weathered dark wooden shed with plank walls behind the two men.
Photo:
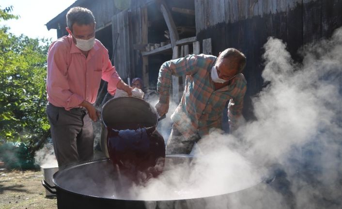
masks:
{"type": "MultiPolygon", "coordinates": [[[[66,35],[65,15],[74,6],[93,12],[96,38],[108,48],[123,80],[140,77],[151,90],[165,61],[238,48],[248,59],[246,118],[253,117],[250,97],[264,84],[262,54],[267,37],[282,39],[299,61],[298,48],[329,37],[342,26],[342,0],[77,0],[51,19],[47,29],[57,29],[58,37],[66,35]]],[[[175,102],[182,96],[183,79],[172,78],[175,102]]],[[[106,100],[105,90],[103,82],[97,105],[106,100]]]]}

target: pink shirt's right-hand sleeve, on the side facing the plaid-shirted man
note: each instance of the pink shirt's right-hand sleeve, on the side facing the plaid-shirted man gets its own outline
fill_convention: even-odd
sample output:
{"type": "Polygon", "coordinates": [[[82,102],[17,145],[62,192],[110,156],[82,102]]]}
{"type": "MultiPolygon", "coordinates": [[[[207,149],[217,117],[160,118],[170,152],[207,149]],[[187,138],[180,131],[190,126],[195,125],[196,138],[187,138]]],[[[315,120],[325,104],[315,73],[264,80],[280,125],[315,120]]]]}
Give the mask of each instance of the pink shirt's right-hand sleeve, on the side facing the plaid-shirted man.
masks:
{"type": "Polygon", "coordinates": [[[102,55],[102,79],[108,82],[108,93],[113,96],[116,91],[116,85],[121,80],[118,72],[109,60],[108,50],[105,49],[102,55]]]}

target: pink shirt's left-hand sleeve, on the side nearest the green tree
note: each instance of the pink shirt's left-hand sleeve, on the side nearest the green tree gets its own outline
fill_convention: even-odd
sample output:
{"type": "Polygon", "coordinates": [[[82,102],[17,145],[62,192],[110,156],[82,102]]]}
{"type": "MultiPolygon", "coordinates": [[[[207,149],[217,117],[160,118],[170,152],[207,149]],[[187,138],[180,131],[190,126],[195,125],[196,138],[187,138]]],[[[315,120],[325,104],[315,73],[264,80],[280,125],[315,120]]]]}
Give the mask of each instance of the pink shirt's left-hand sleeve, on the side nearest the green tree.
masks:
{"type": "Polygon", "coordinates": [[[47,94],[58,99],[65,110],[70,110],[79,106],[84,99],[69,90],[67,51],[68,48],[58,41],[49,48],[47,54],[47,94]]]}

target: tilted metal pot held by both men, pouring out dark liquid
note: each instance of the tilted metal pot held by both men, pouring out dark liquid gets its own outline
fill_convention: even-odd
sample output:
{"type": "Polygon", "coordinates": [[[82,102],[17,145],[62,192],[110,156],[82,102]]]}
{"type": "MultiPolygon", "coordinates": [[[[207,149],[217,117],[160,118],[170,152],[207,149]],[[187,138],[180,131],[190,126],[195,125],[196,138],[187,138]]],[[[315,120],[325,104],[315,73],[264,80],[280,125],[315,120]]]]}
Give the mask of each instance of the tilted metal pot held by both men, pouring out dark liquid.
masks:
{"type": "Polygon", "coordinates": [[[115,127],[118,124],[140,124],[143,127],[156,127],[158,114],[155,108],[145,100],[123,96],[110,99],[103,105],[101,119],[100,147],[105,156],[109,158],[107,148],[108,127],[115,127]]]}

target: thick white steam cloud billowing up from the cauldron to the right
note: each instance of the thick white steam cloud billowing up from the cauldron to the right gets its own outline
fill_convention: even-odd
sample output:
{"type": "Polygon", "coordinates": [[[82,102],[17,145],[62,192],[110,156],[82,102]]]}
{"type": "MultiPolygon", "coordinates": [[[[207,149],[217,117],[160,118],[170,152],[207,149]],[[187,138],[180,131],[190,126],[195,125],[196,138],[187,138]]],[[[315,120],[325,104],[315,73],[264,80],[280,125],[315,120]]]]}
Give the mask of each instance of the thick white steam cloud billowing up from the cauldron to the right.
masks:
{"type": "MultiPolygon", "coordinates": [[[[188,200],[186,208],[341,208],[342,29],[329,40],[304,46],[301,64],[279,39],[268,38],[264,49],[262,76],[269,84],[253,98],[257,119],[233,135],[212,132],[198,143],[202,160],[194,167],[165,172],[132,193],[142,199],[172,196],[172,191],[183,191],[185,198],[224,188],[229,193],[236,182],[258,178],[252,172],[258,168],[270,177],[264,183],[207,198],[201,205],[188,200]]],[[[176,207],[157,202],[146,206],[176,207]]]]}

